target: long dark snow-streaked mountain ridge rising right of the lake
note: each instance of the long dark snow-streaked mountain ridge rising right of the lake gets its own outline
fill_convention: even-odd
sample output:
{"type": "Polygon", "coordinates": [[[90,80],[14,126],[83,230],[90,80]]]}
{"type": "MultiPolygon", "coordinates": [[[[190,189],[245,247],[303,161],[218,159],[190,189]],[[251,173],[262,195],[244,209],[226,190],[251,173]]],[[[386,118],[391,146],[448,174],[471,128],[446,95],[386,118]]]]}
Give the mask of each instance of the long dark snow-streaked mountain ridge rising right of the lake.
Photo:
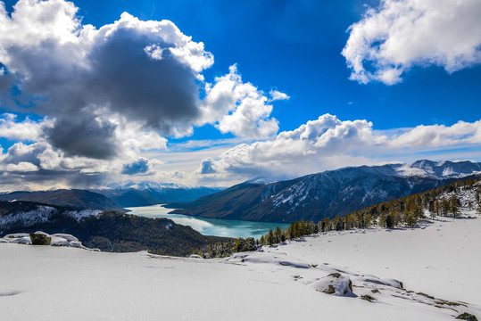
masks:
{"type": "Polygon", "coordinates": [[[195,202],[170,206],[182,209],[176,213],[205,218],[317,222],[477,175],[481,163],[471,161],[361,166],[266,185],[247,181],[195,202]]]}

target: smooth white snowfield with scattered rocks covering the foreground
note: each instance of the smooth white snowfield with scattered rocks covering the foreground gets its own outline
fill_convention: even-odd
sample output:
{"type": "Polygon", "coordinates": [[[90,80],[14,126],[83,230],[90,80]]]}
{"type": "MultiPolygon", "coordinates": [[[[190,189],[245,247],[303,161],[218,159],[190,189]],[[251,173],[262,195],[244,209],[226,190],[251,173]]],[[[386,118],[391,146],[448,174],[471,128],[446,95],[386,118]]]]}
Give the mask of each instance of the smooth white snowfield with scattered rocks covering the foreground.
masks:
{"type": "Polygon", "coordinates": [[[351,232],[211,260],[0,243],[0,318],[452,320],[465,311],[481,316],[481,219],[351,232]],[[340,276],[327,277],[333,273],[340,276]],[[353,293],[320,292],[328,284],[345,288],[347,279],[353,293]],[[361,300],[367,294],[373,302],[361,300]]]}

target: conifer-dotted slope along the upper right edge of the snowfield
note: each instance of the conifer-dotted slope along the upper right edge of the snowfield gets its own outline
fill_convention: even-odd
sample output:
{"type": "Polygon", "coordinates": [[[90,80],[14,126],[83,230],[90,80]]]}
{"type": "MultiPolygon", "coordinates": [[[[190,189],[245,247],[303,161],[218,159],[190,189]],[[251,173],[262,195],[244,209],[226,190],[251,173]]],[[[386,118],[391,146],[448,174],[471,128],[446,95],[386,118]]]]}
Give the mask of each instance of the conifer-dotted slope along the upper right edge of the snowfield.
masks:
{"type": "Polygon", "coordinates": [[[365,229],[373,226],[384,228],[413,227],[419,219],[452,217],[461,215],[481,216],[481,177],[469,178],[437,187],[424,193],[404,196],[382,202],[346,214],[344,217],[324,218],[319,222],[295,221],[286,230],[277,227],[262,235],[259,240],[252,237],[238,238],[228,243],[212,243],[196,249],[195,254],[205,259],[228,257],[236,252],[255,251],[262,245],[274,245],[294,240],[304,235],[365,229]]]}

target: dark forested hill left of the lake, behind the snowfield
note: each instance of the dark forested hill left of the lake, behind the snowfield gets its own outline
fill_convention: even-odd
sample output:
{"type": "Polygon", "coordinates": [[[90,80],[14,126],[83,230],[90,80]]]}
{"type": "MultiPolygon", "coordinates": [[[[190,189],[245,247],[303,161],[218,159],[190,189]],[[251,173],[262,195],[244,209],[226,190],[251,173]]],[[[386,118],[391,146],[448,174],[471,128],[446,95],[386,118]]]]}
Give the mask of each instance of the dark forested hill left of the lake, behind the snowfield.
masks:
{"type": "Polygon", "coordinates": [[[0,202],[0,236],[13,233],[75,235],[102,251],[145,251],[186,256],[196,247],[225,242],[167,218],[140,218],[112,210],[74,210],[37,202],[0,202]]]}

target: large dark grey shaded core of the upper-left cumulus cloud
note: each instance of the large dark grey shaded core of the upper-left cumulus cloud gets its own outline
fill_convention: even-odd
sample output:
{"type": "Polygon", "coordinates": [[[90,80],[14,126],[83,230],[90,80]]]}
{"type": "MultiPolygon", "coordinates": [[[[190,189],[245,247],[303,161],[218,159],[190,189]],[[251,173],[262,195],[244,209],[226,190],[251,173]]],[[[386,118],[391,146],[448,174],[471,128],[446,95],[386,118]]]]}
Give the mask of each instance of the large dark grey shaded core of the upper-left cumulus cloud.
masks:
{"type": "Polygon", "coordinates": [[[195,73],[169,50],[163,51],[162,60],[153,60],[144,50],[150,44],[136,29],[119,29],[96,46],[90,55],[95,71],[87,78],[89,95],[95,103],[109,104],[112,111],[170,135],[172,128],[199,115],[195,73]]]}

